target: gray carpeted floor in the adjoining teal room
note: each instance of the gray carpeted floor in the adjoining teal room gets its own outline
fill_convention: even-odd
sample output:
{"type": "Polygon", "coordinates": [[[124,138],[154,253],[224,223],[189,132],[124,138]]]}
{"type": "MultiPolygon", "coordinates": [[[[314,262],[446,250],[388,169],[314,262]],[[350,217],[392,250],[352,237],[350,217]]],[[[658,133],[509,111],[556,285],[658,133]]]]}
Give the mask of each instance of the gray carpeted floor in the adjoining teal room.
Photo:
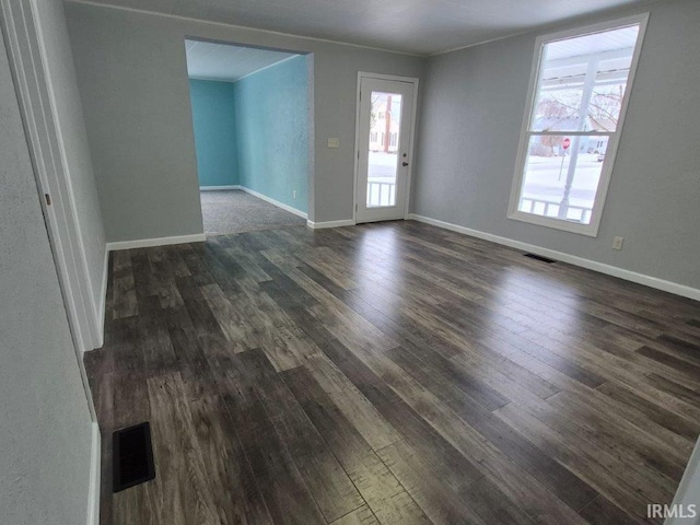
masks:
{"type": "Polygon", "coordinates": [[[306,224],[305,219],[240,189],[201,191],[199,195],[207,235],[306,224]]]}

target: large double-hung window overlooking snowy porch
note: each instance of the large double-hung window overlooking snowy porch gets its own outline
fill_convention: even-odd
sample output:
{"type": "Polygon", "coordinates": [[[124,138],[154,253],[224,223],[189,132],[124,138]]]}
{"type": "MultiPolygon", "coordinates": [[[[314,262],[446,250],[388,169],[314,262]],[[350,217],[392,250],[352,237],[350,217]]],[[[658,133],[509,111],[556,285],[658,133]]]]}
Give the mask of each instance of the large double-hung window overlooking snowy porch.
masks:
{"type": "Polygon", "coordinates": [[[597,234],[645,24],[537,39],[511,219],[597,234]]]}

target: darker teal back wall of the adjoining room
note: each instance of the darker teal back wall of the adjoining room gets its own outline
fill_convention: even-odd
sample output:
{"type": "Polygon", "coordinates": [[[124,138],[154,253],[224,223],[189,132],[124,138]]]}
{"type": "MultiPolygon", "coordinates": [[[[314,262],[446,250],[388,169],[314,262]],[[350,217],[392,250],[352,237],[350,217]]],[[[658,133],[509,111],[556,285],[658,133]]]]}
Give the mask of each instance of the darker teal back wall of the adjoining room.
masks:
{"type": "Polygon", "coordinates": [[[199,186],[238,183],[234,84],[189,81],[199,186]]]}

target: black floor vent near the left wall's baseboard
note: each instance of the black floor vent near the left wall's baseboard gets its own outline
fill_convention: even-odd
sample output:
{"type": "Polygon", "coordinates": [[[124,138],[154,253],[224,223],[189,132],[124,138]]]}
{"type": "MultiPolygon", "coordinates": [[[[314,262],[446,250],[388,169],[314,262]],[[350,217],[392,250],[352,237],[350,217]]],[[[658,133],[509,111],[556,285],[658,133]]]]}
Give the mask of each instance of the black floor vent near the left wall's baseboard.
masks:
{"type": "Polygon", "coordinates": [[[117,430],[112,435],[112,444],[113,492],[119,492],[155,477],[151,427],[148,422],[117,430]]]}

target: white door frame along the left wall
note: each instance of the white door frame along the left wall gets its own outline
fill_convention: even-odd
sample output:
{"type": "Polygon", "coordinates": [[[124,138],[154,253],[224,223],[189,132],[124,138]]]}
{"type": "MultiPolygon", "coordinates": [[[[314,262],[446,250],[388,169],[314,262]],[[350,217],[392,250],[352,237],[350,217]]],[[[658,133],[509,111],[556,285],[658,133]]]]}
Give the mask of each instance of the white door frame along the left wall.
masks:
{"type": "Polygon", "coordinates": [[[102,346],[103,335],[94,301],[91,301],[84,246],[70,195],[66,144],[54,113],[56,101],[45,70],[44,43],[36,25],[38,1],[0,0],[0,25],[75,360],[90,417],[96,424],[97,416],[82,358],[85,351],[102,346]],[[47,196],[50,196],[50,200],[47,196]]]}

